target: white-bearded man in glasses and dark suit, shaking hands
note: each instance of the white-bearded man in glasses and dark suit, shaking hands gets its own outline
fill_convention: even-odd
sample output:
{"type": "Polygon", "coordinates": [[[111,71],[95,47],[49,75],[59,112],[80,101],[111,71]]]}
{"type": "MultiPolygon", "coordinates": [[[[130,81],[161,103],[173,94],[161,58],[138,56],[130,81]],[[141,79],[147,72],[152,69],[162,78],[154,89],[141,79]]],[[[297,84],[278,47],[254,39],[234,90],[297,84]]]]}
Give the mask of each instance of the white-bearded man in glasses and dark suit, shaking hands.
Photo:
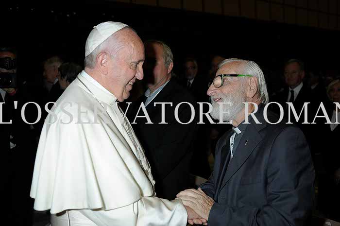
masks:
{"type": "Polygon", "coordinates": [[[178,194],[183,204],[211,226],[306,225],[315,175],[308,144],[297,126],[272,124],[280,118],[264,115],[268,93],[262,70],[252,61],[224,60],[207,93],[211,115],[219,119],[223,106],[229,114],[222,119],[233,129],[218,141],[209,180],[198,191],[178,194]],[[244,102],[255,104],[246,108],[244,102]],[[243,123],[250,113],[254,117],[243,123]]]}

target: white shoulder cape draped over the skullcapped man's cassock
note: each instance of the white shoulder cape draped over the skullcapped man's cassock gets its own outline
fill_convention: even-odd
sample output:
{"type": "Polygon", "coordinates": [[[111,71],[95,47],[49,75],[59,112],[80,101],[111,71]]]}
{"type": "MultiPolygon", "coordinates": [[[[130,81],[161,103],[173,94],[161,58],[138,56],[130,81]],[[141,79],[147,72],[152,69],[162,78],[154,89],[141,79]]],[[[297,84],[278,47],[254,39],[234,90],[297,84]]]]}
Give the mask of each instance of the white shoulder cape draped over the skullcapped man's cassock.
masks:
{"type": "MultiPolygon", "coordinates": [[[[51,109],[57,122],[45,122],[40,135],[30,194],[34,209],[109,210],[152,196],[152,185],[119,132],[118,121],[102,114],[93,123],[95,104],[75,80],[51,109]],[[86,113],[79,114],[79,105],[86,113]]],[[[53,122],[52,117],[50,113],[47,121],[53,122]]]]}

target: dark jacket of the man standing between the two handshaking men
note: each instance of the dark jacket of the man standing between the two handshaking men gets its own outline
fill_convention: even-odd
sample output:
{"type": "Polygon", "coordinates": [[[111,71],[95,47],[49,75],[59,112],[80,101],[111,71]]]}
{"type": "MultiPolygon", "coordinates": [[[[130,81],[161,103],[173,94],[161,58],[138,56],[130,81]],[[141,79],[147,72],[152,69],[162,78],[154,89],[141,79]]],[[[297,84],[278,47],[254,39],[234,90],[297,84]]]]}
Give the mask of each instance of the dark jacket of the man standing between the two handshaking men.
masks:
{"type": "MultiPolygon", "coordinates": [[[[144,95],[130,106],[127,116],[150,162],[157,196],[171,200],[178,192],[188,188],[190,160],[197,128],[196,118],[189,124],[181,124],[176,121],[174,111],[178,103],[193,104],[194,99],[187,90],[170,80],[146,106],[153,124],[146,124],[145,118],[137,118],[134,124],[142,101],[145,101],[144,95]],[[165,105],[165,122],[168,124],[159,124],[162,120],[161,104],[153,105],[157,102],[173,104],[172,107],[165,105]]],[[[139,115],[143,115],[143,112],[139,112],[139,115]]],[[[191,109],[188,104],[180,106],[178,118],[181,122],[189,122],[191,109]]]]}

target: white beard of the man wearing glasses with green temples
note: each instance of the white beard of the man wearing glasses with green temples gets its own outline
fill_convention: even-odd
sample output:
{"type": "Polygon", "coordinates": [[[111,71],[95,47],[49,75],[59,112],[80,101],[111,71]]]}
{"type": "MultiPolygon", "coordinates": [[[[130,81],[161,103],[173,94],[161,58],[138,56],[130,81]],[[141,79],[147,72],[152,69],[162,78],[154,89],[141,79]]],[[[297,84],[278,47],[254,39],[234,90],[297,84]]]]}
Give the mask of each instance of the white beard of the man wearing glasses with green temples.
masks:
{"type": "Polygon", "coordinates": [[[242,111],[246,97],[242,89],[238,89],[233,95],[216,94],[211,97],[212,111],[210,115],[215,120],[222,120],[223,122],[230,122],[235,119],[237,115],[242,111]],[[213,101],[213,99],[221,98],[219,102],[213,101]],[[229,104],[227,104],[229,103],[229,104]],[[221,108],[222,107],[222,108],[221,108]],[[221,116],[220,116],[221,115],[221,116]]]}

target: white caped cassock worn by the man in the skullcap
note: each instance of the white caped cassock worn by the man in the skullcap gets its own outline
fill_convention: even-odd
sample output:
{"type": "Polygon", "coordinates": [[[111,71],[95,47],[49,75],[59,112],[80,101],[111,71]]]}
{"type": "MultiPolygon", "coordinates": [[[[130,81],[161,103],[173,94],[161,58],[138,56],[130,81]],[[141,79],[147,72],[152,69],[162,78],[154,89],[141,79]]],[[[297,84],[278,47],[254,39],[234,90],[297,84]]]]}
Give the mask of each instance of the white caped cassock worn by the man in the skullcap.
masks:
{"type": "Polygon", "coordinates": [[[116,101],[85,71],[58,99],[39,140],[34,209],[51,209],[51,226],[185,226],[180,200],[155,197],[148,160],[116,101]]]}

